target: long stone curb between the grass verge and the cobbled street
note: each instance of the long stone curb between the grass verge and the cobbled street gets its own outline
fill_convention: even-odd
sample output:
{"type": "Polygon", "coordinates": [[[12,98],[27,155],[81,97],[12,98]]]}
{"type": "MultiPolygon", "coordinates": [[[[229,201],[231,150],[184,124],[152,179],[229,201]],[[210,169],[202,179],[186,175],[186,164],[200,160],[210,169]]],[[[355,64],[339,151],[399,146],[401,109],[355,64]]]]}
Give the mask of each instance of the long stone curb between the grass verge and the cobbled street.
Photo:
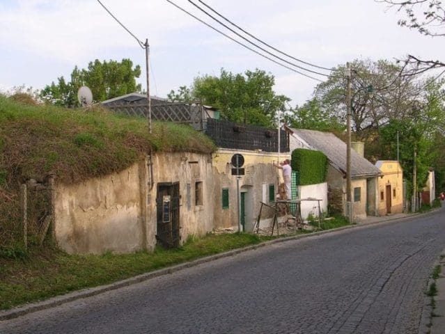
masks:
{"type": "Polygon", "coordinates": [[[48,308],[54,308],[58,305],[62,305],[64,303],[69,303],[70,301],[75,301],[77,299],[83,299],[83,298],[87,298],[90,296],[95,296],[97,294],[102,294],[103,292],[120,289],[121,287],[127,287],[129,285],[141,283],[145,280],[150,280],[151,278],[165,276],[169,273],[174,273],[174,272],[180,271],[182,269],[196,267],[199,264],[211,262],[211,261],[223,258],[223,257],[234,256],[234,255],[237,255],[240,253],[247,252],[249,250],[256,250],[258,248],[270,246],[272,244],[279,244],[281,242],[298,240],[298,239],[306,239],[309,237],[318,237],[323,234],[334,234],[336,232],[343,232],[345,230],[369,228],[371,226],[384,225],[385,223],[391,223],[393,221],[401,221],[401,220],[404,220],[407,218],[412,218],[413,216],[417,216],[417,215],[418,214],[409,214],[408,216],[404,216],[404,217],[388,218],[388,219],[385,219],[384,221],[363,223],[363,224],[359,224],[359,225],[346,225],[341,228],[336,228],[336,229],[331,229],[331,230],[312,232],[312,233],[308,233],[308,234],[299,234],[299,235],[295,235],[295,236],[291,236],[291,237],[283,237],[283,238],[279,238],[279,239],[265,241],[265,242],[262,242],[261,244],[247,246],[244,248],[238,248],[235,250],[229,250],[228,252],[210,255],[207,257],[201,257],[200,259],[194,260],[192,262],[185,262],[182,264],[176,264],[173,267],[167,267],[167,268],[159,269],[156,271],[150,271],[149,273],[142,273],[141,275],[134,276],[132,278],[127,278],[125,280],[120,280],[118,282],[111,283],[108,285],[100,285],[99,287],[91,287],[91,288],[87,288],[87,289],[81,289],[77,292],[71,292],[69,294],[63,294],[61,296],[52,297],[50,299],[47,299],[46,301],[40,301],[40,302],[36,302],[36,303],[19,306],[17,308],[13,308],[12,310],[0,311],[0,321],[21,317],[22,315],[26,315],[31,312],[47,310],[48,308]]]}

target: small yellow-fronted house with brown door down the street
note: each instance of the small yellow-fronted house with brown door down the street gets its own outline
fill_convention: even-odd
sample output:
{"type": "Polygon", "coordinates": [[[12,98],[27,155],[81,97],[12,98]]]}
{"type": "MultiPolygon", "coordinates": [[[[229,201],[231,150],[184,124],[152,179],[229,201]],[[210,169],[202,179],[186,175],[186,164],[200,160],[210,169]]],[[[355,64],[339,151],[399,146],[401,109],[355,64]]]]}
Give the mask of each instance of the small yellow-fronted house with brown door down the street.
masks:
{"type": "Polygon", "coordinates": [[[375,166],[382,175],[379,180],[380,216],[385,214],[400,214],[403,212],[403,170],[398,161],[379,160],[375,166]]]}

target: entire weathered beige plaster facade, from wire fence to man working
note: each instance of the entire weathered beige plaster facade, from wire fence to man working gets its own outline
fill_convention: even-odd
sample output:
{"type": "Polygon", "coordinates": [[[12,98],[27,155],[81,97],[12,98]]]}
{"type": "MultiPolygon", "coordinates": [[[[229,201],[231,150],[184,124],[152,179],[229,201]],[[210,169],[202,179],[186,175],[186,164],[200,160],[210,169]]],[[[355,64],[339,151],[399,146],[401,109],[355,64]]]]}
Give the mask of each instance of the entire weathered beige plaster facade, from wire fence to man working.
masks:
{"type": "MultiPolygon", "coordinates": [[[[80,184],[58,184],[55,198],[56,240],[69,253],[129,253],[156,245],[159,184],[179,182],[180,238],[201,236],[214,228],[237,229],[237,178],[231,175],[231,157],[244,155],[245,175],[240,191],[245,198],[245,230],[256,222],[260,201],[269,202],[269,185],[278,189],[281,170],[272,166],[276,154],[219,150],[213,157],[198,153],[159,153],[123,172],[80,184]],[[151,166],[150,168],[150,161],[151,166]],[[153,169],[153,175],[150,173],[153,169]],[[196,183],[202,186],[196,203],[196,183]],[[222,189],[229,207],[222,207],[222,189]]],[[[281,155],[281,159],[289,155],[281,155]]],[[[274,194],[272,194],[274,197],[274,194]]],[[[263,223],[272,211],[263,212],[263,223]]]]}

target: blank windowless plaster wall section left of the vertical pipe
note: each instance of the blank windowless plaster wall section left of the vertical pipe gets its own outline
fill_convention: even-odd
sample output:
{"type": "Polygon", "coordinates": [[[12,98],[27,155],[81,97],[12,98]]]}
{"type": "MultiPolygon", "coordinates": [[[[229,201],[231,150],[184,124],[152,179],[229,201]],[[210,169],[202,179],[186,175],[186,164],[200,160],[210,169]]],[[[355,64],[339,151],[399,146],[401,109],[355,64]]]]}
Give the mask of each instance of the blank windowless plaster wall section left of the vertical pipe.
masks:
{"type": "Polygon", "coordinates": [[[140,169],[56,186],[54,234],[68,253],[127,253],[143,248],[140,169]]]}

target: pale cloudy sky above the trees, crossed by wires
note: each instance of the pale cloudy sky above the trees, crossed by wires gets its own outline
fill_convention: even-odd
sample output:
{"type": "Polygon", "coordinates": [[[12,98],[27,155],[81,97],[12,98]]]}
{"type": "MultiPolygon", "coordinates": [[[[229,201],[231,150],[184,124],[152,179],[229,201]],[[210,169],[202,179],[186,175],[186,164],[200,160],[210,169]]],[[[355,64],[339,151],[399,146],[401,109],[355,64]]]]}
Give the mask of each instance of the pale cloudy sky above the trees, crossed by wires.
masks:
{"type": "MultiPolygon", "coordinates": [[[[189,1],[172,1],[233,35],[189,1]]],[[[445,54],[443,40],[398,26],[402,13],[373,0],[203,1],[276,49],[322,67],[357,58],[395,61],[412,54],[437,60],[445,54]]],[[[237,45],[166,0],[101,2],[137,39],[148,38],[151,95],[166,97],[195,77],[219,76],[221,68],[265,70],[275,78],[275,93],[290,97],[292,106],[311,99],[319,84],[237,45]]],[[[75,65],[123,58],[141,65],[138,82],[145,89],[145,51],[96,0],[0,0],[0,91],[42,89],[58,77],[69,78],[75,65]]]]}

